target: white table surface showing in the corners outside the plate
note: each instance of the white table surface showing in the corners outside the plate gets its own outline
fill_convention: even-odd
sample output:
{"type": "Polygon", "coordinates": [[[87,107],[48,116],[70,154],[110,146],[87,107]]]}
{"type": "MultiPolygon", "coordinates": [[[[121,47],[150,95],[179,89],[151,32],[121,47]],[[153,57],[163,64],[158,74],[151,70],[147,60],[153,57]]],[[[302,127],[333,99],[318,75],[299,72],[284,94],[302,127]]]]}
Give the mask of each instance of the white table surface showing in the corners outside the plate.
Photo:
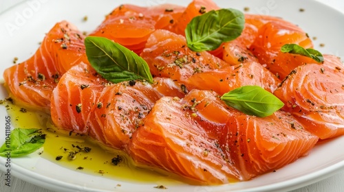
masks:
{"type": "MultiPolygon", "coordinates": [[[[16,5],[17,3],[23,0],[0,0],[0,12],[7,10],[8,8],[16,5]]],[[[321,1],[327,5],[332,6],[336,10],[340,10],[344,13],[344,1],[343,0],[316,0],[321,1]]],[[[344,22],[344,21],[343,21],[344,22]]],[[[34,191],[34,192],[53,192],[50,189],[45,189],[29,182],[25,182],[19,178],[12,177],[12,187],[4,187],[4,172],[0,171],[0,192],[19,192],[19,191],[34,191]]],[[[339,171],[334,176],[327,178],[325,180],[321,180],[314,184],[311,184],[307,187],[303,187],[300,189],[296,189],[290,192],[323,192],[323,191],[331,191],[331,192],[341,192],[344,191],[344,170],[339,171]]]]}

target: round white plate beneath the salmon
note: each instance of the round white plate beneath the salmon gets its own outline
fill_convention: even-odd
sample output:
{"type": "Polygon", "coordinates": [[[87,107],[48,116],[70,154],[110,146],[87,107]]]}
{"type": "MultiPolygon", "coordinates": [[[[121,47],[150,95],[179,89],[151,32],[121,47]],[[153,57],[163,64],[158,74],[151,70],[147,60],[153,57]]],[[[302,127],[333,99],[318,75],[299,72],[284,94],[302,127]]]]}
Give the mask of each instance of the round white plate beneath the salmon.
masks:
{"type": "MultiPolygon", "coordinates": [[[[230,0],[215,1],[224,8],[232,7],[250,13],[281,16],[283,19],[296,23],[314,40],[315,48],[322,53],[344,56],[344,15],[336,10],[311,0],[303,1],[259,1],[230,0]],[[300,8],[304,12],[300,12],[300,8]],[[325,47],[319,45],[323,43],[325,47]]],[[[19,62],[29,58],[39,47],[45,32],[58,21],[67,20],[81,31],[91,32],[120,3],[138,5],[156,5],[161,3],[178,3],[186,5],[183,0],[145,0],[145,1],[25,1],[0,15],[0,73],[12,65],[14,57],[19,62]],[[83,16],[88,21],[83,22],[83,16]]],[[[0,99],[5,98],[6,90],[0,87],[0,99]]],[[[5,137],[5,108],[0,108],[0,143],[5,137]]],[[[28,122],[30,123],[30,122],[28,122]]],[[[200,187],[187,184],[168,186],[166,191],[287,191],[317,182],[344,167],[344,136],[321,143],[312,149],[308,156],[300,158],[279,169],[275,173],[267,173],[248,182],[239,182],[218,187],[200,187]]],[[[5,171],[6,158],[0,158],[0,169],[5,171]]],[[[157,183],[139,184],[111,180],[99,176],[76,172],[60,167],[44,158],[29,156],[11,159],[11,174],[28,182],[55,191],[158,191],[157,183]],[[121,187],[116,187],[121,184],[121,187]]]]}

